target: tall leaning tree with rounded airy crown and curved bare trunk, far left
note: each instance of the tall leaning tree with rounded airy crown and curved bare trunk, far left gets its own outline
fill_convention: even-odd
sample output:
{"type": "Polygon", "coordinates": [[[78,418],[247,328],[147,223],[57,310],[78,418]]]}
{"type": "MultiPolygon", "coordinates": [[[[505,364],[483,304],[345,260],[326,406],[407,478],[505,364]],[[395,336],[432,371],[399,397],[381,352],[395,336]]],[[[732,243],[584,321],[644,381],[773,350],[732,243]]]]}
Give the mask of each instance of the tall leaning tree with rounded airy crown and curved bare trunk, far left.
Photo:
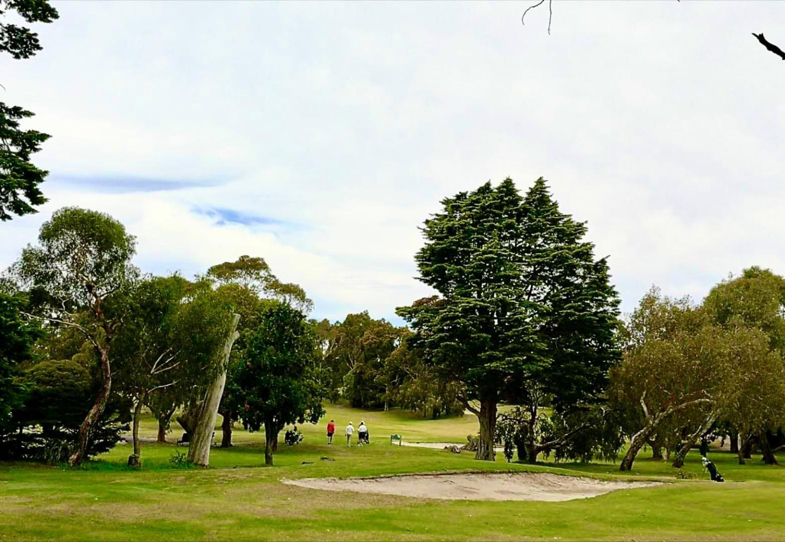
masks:
{"type": "Polygon", "coordinates": [[[38,244],[28,245],[12,267],[18,286],[30,292],[35,308],[28,316],[49,327],[79,331],[93,346],[101,375],[100,390],[79,428],[68,463],[82,463],[90,428],[111,392],[111,345],[122,326],[120,302],[138,271],[131,265],[134,237],[108,214],[64,207],[41,226],[38,244]]]}

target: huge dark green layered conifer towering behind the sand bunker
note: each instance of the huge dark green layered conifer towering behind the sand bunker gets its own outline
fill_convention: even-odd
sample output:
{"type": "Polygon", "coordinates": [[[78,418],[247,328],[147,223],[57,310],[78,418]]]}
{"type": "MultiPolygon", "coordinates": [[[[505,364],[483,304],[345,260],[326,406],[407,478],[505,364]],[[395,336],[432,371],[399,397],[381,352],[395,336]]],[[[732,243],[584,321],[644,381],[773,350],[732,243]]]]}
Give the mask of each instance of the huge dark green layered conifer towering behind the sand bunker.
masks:
{"type": "Polygon", "coordinates": [[[476,458],[494,460],[497,404],[555,408],[601,401],[619,357],[619,300],[586,225],[559,211],[546,181],[525,197],[511,179],[442,201],[425,221],[419,280],[440,295],[400,307],[441,379],[480,420],[476,458]],[[479,401],[476,408],[471,401],[479,401]]]}

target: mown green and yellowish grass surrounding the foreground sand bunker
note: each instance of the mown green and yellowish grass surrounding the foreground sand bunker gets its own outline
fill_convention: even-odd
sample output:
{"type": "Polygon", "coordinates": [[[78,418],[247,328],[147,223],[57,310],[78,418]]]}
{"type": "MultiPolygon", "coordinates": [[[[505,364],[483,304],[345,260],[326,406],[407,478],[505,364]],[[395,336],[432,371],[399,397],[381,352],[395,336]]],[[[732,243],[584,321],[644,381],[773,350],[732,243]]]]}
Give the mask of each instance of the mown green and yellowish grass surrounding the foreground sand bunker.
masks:
{"type": "MultiPolygon", "coordinates": [[[[327,446],[323,423],[301,427],[305,441],[282,442],[275,467],[261,467],[263,434],[235,430],[232,449],[214,448],[212,468],[175,469],[173,445],[145,444],[144,468],[130,471],[130,445],[118,445],[81,470],[29,463],[0,463],[0,540],[782,540],[785,537],[785,469],[756,456],[736,465],[714,452],[728,482],[706,481],[698,455],[677,480],[670,463],[635,463],[619,477],[612,463],[538,466],[475,461],[433,449],[389,445],[389,434],[407,441],[466,440],[473,416],[418,419],[405,412],[362,412],[328,405],[338,426],[327,446]],[[345,423],[363,419],[371,445],[341,445],[345,423]],[[329,457],[332,460],[323,460],[329,457]],[[598,478],[672,482],[625,489],[560,503],[424,500],[370,493],[331,492],[284,485],[282,478],[373,476],[444,471],[550,471],[598,478]]],[[[220,421],[220,420],[219,420],[220,421]]],[[[155,435],[146,420],[144,436],[155,435]]],[[[216,439],[220,440],[217,427],[216,439]]],[[[178,431],[170,434],[174,439],[178,431]]],[[[180,449],[184,451],[183,448],[180,449]]],[[[785,460],[785,458],[780,458],[785,460]]]]}

